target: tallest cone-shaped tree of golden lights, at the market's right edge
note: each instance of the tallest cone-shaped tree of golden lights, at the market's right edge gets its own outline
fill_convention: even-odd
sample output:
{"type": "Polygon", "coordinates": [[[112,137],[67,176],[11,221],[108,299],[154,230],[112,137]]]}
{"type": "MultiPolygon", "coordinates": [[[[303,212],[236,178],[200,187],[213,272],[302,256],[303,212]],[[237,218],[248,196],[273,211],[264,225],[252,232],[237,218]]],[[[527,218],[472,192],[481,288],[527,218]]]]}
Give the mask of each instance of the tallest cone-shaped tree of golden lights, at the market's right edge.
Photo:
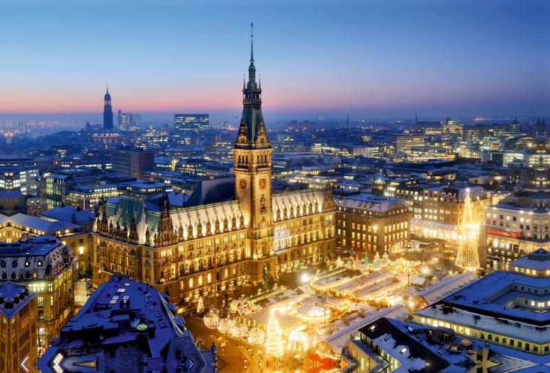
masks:
{"type": "Polygon", "coordinates": [[[470,189],[466,189],[464,198],[464,217],[462,220],[462,238],[459,242],[459,253],[456,255],[456,266],[465,270],[475,270],[479,266],[477,237],[479,227],[472,218],[470,189]]]}

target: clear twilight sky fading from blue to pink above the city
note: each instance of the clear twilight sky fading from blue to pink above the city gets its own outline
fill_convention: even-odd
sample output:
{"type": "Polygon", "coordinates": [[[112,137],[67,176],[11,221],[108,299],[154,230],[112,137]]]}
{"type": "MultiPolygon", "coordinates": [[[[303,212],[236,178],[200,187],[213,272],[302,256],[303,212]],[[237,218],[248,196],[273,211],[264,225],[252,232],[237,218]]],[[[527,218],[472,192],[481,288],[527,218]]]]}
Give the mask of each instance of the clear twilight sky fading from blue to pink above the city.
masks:
{"type": "MultiPolygon", "coordinates": [[[[0,113],[550,115],[549,1],[0,1],[0,113]]],[[[5,116],[5,114],[3,114],[5,116]]],[[[1,116],[0,116],[1,117],[1,116]]]]}

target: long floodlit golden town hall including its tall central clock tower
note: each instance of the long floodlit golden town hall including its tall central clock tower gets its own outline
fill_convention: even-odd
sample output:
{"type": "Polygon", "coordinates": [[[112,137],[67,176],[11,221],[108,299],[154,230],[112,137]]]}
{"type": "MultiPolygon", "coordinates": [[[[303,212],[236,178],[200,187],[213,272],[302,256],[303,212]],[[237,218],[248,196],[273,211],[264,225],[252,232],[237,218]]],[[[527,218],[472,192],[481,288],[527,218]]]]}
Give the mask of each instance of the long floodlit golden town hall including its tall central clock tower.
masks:
{"type": "Polygon", "coordinates": [[[334,250],[330,189],[272,191],[272,146],[255,78],[251,56],[232,178],[203,180],[179,204],[166,193],[100,204],[94,287],[122,274],[155,286],[174,303],[186,302],[276,278],[334,250]]]}

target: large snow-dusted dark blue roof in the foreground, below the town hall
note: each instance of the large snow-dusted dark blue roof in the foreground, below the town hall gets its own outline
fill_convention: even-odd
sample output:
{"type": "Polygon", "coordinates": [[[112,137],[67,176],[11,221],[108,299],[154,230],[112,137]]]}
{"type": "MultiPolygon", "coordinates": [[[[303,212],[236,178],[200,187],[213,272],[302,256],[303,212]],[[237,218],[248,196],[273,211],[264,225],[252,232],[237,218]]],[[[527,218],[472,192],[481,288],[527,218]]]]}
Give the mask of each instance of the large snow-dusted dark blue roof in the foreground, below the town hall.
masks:
{"type": "Polygon", "coordinates": [[[152,286],[120,276],[99,286],[36,363],[48,373],[99,364],[101,372],[201,373],[207,367],[175,306],[152,286]]]}

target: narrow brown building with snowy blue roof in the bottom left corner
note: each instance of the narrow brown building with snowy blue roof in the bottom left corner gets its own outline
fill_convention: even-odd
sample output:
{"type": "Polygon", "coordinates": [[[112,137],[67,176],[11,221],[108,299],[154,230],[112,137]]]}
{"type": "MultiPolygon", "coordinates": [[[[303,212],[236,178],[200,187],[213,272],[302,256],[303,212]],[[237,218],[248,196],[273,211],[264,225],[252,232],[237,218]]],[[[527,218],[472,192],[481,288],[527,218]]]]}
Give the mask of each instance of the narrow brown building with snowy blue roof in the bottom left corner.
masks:
{"type": "Polygon", "coordinates": [[[32,372],[36,354],[36,292],[6,281],[0,284],[0,314],[4,328],[0,339],[0,372],[32,372]]]}

